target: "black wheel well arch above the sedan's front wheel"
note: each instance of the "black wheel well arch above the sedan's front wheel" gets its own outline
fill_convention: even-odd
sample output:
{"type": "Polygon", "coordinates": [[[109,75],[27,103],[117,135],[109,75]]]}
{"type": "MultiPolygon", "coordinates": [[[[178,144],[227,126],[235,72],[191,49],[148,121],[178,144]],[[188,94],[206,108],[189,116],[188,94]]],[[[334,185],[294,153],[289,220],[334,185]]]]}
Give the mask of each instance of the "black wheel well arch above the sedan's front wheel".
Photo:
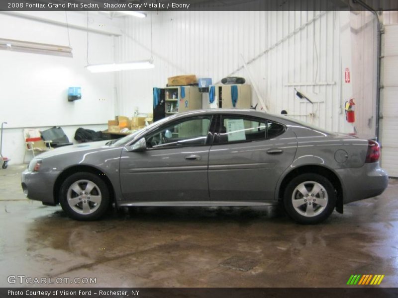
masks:
{"type": "Polygon", "coordinates": [[[109,189],[109,196],[110,196],[110,201],[113,203],[115,201],[115,193],[114,193],[114,189],[113,189],[113,185],[110,182],[109,178],[106,177],[106,175],[100,171],[99,169],[93,167],[93,166],[89,166],[89,165],[76,165],[76,166],[72,166],[70,168],[65,169],[58,177],[57,180],[55,180],[54,183],[54,189],[53,189],[53,195],[54,195],[54,202],[55,204],[59,204],[59,192],[61,190],[61,185],[64,182],[64,180],[77,172],[89,172],[89,173],[93,173],[96,175],[99,175],[100,178],[102,179],[103,182],[105,182],[106,186],[109,189]]]}

